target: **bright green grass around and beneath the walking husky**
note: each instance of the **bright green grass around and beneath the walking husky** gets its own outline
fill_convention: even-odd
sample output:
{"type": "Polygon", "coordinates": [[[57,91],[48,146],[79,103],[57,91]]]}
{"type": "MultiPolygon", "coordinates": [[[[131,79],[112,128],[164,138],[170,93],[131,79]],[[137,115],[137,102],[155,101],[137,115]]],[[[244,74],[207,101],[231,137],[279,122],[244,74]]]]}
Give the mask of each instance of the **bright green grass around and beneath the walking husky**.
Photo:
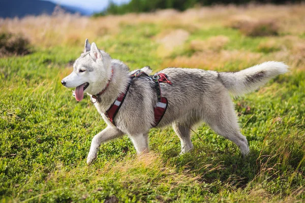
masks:
{"type": "MultiPolygon", "coordinates": [[[[153,37],[161,29],[122,25],[117,35],[94,41],[131,69],[150,65],[160,70],[164,59],[153,37]]],[[[194,31],[190,40],[217,35],[230,39],[227,50],[257,52],[268,39],[211,28],[194,31]]],[[[180,144],[171,128],[152,129],[149,154],[137,157],[124,137],[103,144],[96,162],[87,166],[90,141],[106,124],[89,98],[77,103],[60,84],[72,71],[67,64],[81,51],[82,46],[35,47],[33,54],[0,59],[2,202],[304,201],[305,72],[292,67],[260,90],[234,99],[250,144],[246,159],[203,124],[193,129],[192,153],[178,156],[180,144]]],[[[229,61],[221,71],[232,71],[236,63],[229,61]]]]}

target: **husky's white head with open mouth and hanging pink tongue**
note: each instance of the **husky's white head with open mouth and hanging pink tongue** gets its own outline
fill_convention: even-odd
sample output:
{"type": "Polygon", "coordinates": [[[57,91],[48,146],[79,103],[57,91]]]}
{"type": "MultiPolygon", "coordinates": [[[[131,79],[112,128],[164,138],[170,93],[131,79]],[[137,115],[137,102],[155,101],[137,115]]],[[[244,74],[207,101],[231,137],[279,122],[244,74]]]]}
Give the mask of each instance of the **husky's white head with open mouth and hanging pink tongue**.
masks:
{"type": "Polygon", "coordinates": [[[95,43],[85,42],[84,53],[73,64],[73,72],[62,80],[68,88],[75,88],[75,98],[81,101],[84,93],[98,94],[111,75],[111,57],[99,50],[95,43]]]}

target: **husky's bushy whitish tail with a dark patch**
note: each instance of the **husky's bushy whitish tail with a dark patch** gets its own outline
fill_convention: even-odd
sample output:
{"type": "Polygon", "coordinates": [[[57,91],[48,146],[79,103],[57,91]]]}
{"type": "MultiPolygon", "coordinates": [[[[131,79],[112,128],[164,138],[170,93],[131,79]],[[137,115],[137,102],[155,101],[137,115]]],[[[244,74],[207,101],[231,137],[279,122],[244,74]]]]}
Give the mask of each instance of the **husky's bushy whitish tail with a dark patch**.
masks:
{"type": "Polygon", "coordinates": [[[234,95],[252,92],[268,80],[288,72],[288,65],[283,62],[268,61],[235,73],[219,73],[224,86],[234,95]]]}

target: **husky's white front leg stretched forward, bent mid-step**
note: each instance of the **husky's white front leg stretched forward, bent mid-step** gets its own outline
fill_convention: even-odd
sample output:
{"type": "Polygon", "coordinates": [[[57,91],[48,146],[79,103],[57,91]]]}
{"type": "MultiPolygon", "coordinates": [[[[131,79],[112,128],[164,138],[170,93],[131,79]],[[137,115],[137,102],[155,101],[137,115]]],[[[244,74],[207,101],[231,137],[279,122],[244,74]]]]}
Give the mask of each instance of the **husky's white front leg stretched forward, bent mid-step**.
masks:
{"type": "Polygon", "coordinates": [[[90,151],[87,157],[87,164],[92,163],[96,158],[102,143],[123,136],[123,132],[115,127],[106,127],[101,132],[96,134],[92,139],[90,151]]]}

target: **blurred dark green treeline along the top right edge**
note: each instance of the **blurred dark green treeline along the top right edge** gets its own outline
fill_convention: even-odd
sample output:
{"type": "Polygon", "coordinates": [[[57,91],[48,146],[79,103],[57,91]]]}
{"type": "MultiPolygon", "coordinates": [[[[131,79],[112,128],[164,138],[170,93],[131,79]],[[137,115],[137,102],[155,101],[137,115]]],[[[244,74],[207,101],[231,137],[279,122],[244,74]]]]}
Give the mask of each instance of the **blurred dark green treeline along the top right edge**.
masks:
{"type": "MultiPolygon", "coordinates": [[[[185,11],[189,8],[196,6],[211,6],[211,5],[242,5],[248,3],[259,4],[285,4],[286,0],[131,0],[128,4],[116,5],[110,2],[108,8],[100,13],[94,14],[94,16],[108,15],[108,14],[125,14],[125,13],[141,13],[151,12],[158,9],[175,9],[178,11],[185,11]]],[[[302,0],[291,0],[289,3],[300,3],[302,0]]]]}

